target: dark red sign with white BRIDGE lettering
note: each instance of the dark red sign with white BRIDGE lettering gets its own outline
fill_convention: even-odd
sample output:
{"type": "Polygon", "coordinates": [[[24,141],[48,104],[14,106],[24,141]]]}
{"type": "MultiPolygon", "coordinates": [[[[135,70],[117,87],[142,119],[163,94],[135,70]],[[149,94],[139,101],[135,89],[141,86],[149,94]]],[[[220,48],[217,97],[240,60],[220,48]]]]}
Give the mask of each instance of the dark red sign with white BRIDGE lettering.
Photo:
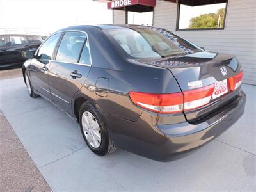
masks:
{"type": "Polygon", "coordinates": [[[111,2],[108,2],[108,9],[121,8],[135,4],[156,6],[156,0],[112,0],[111,2]]]}

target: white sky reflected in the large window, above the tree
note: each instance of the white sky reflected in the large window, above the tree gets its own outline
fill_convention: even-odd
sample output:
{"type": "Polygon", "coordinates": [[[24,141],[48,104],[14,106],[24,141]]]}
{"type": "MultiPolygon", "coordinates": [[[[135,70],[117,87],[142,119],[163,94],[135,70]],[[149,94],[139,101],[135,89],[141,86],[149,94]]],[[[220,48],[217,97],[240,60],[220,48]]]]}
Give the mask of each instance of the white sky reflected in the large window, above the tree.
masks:
{"type": "Polygon", "coordinates": [[[179,28],[186,29],[189,26],[189,20],[205,13],[216,13],[218,9],[225,8],[226,3],[202,5],[202,6],[180,6],[180,22],[179,28]],[[212,10],[215,10],[212,11],[212,10]]]}

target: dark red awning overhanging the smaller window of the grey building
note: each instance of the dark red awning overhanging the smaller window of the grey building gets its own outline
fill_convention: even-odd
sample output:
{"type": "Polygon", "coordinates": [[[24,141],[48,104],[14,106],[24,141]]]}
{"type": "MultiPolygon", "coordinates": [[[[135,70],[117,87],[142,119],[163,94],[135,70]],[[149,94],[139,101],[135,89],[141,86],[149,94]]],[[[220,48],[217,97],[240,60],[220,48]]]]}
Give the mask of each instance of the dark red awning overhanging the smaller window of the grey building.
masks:
{"type": "Polygon", "coordinates": [[[112,0],[108,2],[108,9],[131,12],[151,12],[154,6],[156,6],[156,0],[112,0]]]}

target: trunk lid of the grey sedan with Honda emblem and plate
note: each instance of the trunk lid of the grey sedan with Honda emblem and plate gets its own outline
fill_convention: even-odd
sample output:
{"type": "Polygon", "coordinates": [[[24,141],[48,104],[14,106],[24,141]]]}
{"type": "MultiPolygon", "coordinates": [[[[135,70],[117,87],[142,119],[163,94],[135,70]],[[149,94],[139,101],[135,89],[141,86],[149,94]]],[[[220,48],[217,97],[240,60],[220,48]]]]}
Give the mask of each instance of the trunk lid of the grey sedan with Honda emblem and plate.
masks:
{"type": "Polygon", "coordinates": [[[241,82],[236,85],[236,79],[241,78],[242,68],[236,58],[229,54],[197,52],[173,58],[139,61],[164,67],[172,72],[184,93],[184,115],[188,122],[195,122],[232,101],[240,90],[241,82]],[[207,98],[205,96],[200,99],[202,94],[206,94],[207,98]],[[198,102],[202,106],[196,107],[198,102]]]}

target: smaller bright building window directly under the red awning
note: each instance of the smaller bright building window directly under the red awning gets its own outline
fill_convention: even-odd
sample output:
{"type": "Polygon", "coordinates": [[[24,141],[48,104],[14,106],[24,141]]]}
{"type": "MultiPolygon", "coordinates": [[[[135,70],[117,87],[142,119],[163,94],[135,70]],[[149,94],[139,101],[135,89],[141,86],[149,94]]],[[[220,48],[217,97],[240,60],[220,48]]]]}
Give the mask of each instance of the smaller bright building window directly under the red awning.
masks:
{"type": "Polygon", "coordinates": [[[127,11],[127,24],[152,26],[153,12],[131,12],[127,11]]]}

